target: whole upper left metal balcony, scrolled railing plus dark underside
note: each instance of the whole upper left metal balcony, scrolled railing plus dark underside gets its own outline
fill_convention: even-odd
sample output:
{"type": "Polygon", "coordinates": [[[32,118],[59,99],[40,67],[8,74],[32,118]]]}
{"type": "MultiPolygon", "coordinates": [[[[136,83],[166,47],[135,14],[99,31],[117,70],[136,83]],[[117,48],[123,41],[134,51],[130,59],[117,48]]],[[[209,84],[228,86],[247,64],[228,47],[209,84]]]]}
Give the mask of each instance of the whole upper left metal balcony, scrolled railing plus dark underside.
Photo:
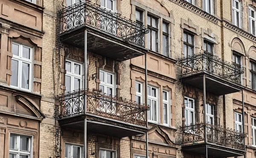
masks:
{"type": "Polygon", "coordinates": [[[64,43],[84,48],[84,30],[88,31],[87,49],[99,55],[123,61],[143,55],[144,26],[89,1],[59,11],[64,43]]]}

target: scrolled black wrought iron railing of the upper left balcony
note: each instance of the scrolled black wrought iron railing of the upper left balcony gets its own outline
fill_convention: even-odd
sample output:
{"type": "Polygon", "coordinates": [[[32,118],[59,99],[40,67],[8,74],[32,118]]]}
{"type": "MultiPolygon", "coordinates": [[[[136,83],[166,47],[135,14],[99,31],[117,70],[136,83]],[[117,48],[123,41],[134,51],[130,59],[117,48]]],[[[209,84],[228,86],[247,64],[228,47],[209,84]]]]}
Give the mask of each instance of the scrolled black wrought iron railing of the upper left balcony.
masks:
{"type": "Polygon", "coordinates": [[[144,26],[120,16],[101,6],[90,3],[76,3],[59,11],[62,20],[62,32],[70,32],[83,26],[105,32],[128,43],[145,47],[144,26]]]}

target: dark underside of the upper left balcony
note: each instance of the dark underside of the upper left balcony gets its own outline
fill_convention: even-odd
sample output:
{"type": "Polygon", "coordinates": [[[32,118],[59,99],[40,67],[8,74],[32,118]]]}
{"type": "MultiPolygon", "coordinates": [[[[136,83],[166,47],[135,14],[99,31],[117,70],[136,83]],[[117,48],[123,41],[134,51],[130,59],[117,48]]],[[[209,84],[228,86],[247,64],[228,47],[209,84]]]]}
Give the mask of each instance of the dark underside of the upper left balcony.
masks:
{"type": "Polygon", "coordinates": [[[87,50],[118,61],[144,55],[146,49],[129,44],[99,30],[83,26],[62,35],[63,43],[84,49],[84,30],[87,29],[87,50]]]}

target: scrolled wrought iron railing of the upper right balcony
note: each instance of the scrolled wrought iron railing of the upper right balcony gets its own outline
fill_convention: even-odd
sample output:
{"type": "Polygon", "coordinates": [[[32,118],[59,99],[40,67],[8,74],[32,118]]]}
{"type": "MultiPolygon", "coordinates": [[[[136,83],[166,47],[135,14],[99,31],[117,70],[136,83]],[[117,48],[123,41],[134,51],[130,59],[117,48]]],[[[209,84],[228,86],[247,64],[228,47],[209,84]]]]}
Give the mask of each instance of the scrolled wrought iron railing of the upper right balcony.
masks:
{"type": "Polygon", "coordinates": [[[190,55],[180,58],[179,63],[181,63],[182,70],[180,77],[207,72],[218,78],[241,85],[241,74],[244,73],[244,69],[221,60],[217,56],[207,53],[190,55]]]}

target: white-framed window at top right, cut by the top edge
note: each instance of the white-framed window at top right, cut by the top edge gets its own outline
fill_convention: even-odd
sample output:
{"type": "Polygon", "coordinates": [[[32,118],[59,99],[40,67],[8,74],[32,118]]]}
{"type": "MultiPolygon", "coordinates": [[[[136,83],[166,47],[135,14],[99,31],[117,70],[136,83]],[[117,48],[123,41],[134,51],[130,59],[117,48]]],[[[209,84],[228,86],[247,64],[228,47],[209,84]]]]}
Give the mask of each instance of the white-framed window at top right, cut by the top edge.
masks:
{"type": "Polygon", "coordinates": [[[241,19],[241,2],[239,0],[232,0],[232,21],[234,25],[240,27],[241,19]]]}

